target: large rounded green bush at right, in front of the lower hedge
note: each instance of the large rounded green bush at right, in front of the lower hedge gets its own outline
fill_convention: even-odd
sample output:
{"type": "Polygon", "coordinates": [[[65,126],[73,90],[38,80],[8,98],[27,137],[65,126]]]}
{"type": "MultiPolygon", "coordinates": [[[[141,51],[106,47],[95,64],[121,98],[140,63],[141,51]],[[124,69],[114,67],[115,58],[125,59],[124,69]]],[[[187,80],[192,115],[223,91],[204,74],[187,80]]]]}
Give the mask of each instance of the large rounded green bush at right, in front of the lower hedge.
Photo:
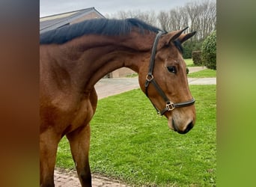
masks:
{"type": "Polygon", "coordinates": [[[213,31],[204,40],[201,47],[201,58],[206,67],[216,70],[216,31],[213,31]]]}

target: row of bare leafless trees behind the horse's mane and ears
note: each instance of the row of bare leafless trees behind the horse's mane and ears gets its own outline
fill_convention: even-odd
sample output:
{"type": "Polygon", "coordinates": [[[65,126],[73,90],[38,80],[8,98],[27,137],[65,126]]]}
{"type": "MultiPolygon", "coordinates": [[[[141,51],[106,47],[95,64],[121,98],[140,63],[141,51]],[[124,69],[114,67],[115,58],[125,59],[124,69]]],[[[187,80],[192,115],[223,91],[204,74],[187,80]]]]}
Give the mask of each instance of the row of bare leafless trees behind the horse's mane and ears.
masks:
{"type": "Polygon", "coordinates": [[[204,40],[216,30],[216,0],[191,1],[183,7],[175,7],[169,11],[160,11],[157,15],[153,10],[119,11],[108,17],[125,19],[135,17],[165,31],[173,31],[189,26],[188,31],[197,31],[193,40],[204,40]]]}

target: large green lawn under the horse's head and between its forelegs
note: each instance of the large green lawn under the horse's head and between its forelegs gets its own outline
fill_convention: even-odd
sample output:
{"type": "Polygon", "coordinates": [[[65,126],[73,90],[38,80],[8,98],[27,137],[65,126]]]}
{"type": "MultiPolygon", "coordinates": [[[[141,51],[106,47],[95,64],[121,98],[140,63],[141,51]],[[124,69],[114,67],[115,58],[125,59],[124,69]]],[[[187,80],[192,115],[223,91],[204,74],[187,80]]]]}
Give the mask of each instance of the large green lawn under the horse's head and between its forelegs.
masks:
{"type": "MultiPolygon", "coordinates": [[[[216,85],[190,87],[197,122],[186,135],[168,129],[139,90],[100,99],[91,121],[91,171],[133,186],[216,186],[216,85]]],[[[74,168],[66,138],[57,166],[74,168]]]]}

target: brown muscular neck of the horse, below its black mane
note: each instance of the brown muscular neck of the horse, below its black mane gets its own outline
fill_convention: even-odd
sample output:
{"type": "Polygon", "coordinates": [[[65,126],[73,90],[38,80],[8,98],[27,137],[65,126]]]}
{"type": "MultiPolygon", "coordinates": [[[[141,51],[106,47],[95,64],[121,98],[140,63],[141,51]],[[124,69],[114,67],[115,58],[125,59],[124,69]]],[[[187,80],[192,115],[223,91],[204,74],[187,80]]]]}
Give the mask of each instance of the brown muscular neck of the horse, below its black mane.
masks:
{"type": "Polygon", "coordinates": [[[132,33],[127,37],[85,35],[61,46],[61,53],[65,58],[63,63],[78,88],[90,92],[103,76],[118,68],[129,67],[138,73],[141,63],[150,57],[155,35],[153,33],[147,36],[132,33]]]}

